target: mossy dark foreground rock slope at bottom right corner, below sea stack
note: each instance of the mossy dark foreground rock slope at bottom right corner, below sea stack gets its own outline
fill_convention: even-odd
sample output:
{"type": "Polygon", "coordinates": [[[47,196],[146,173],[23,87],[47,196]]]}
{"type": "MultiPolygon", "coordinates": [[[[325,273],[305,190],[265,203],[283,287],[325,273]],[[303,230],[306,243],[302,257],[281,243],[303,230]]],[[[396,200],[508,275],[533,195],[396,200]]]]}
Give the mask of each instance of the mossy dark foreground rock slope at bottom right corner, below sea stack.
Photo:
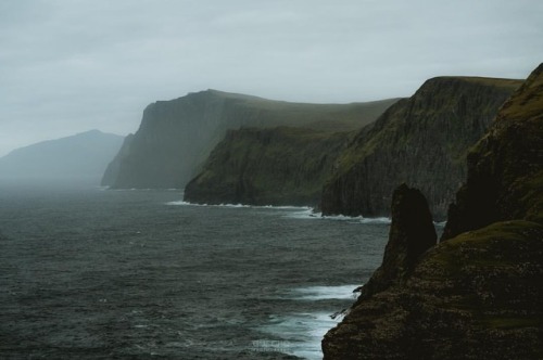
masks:
{"type": "Polygon", "coordinates": [[[541,359],[543,227],[496,223],[426,253],[404,283],[361,299],[325,359],[541,359]]]}

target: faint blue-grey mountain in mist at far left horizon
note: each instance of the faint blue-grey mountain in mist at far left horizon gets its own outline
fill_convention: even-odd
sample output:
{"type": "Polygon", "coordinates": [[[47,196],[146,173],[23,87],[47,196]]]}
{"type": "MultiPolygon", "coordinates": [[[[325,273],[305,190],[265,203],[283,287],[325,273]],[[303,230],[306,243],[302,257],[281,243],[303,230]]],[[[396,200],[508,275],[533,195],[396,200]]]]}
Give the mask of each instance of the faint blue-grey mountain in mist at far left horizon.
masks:
{"type": "Polygon", "coordinates": [[[123,137],[90,130],[20,147],[0,158],[0,179],[92,181],[97,184],[123,137]]]}

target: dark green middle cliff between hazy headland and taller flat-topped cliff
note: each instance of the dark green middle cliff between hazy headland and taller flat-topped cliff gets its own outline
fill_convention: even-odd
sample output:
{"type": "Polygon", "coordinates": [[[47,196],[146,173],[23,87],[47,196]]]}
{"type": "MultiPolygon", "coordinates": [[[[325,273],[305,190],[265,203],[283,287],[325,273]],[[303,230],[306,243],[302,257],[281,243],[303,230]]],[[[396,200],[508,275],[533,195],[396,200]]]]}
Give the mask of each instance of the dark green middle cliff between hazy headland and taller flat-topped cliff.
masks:
{"type": "Polygon", "coordinates": [[[349,132],[307,128],[229,130],[185,188],[185,200],[315,206],[349,138],[349,132]]]}

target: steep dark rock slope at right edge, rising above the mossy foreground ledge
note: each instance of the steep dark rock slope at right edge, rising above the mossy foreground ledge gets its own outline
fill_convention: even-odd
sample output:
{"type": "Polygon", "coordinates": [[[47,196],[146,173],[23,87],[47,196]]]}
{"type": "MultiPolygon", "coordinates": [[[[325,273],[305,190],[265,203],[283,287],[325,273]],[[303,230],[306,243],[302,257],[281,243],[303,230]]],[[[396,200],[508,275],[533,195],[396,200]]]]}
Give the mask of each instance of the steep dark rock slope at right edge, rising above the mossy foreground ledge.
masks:
{"type": "Polygon", "coordinates": [[[543,220],[543,65],[504,104],[468,156],[443,239],[510,219],[543,220]]]}

